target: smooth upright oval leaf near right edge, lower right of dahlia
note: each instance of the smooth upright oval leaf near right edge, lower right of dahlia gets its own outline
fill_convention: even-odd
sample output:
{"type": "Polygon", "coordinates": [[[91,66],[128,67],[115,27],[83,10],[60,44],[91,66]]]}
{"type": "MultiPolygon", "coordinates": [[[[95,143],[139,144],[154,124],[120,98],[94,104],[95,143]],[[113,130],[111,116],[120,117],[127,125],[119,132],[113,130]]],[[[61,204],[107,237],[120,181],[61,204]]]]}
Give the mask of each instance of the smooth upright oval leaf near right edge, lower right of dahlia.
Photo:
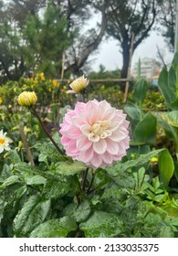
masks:
{"type": "Polygon", "coordinates": [[[174,171],[173,157],[168,150],[162,151],[158,160],[158,165],[162,184],[164,187],[167,187],[174,171]]]}

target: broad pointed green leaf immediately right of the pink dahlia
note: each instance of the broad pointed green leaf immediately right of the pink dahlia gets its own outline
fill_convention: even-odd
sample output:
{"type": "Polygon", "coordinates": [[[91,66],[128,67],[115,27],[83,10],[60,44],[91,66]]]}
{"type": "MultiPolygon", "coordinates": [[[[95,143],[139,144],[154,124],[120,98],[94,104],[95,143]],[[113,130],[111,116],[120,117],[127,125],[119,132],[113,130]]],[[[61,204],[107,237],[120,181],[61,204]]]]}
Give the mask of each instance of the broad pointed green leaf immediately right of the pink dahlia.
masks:
{"type": "Polygon", "coordinates": [[[148,112],[135,127],[134,139],[136,142],[153,144],[156,136],[156,117],[148,112]]]}

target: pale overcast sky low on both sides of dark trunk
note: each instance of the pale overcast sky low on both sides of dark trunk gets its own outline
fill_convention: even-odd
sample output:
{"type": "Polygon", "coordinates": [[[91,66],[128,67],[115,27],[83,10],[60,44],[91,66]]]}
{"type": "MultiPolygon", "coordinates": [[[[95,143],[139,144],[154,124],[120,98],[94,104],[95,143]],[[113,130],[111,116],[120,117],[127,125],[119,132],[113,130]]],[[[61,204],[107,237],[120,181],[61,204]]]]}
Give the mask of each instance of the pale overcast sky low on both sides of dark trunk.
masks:
{"type": "MultiPolygon", "coordinates": [[[[147,37],[141,45],[136,48],[133,53],[131,67],[138,61],[139,58],[152,58],[158,59],[157,57],[157,48],[165,51],[165,62],[170,63],[173,59],[173,53],[171,53],[168,49],[168,46],[164,42],[162,36],[159,36],[156,31],[152,31],[151,36],[147,37]]],[[[99,70],[99,64],[102,64],[108,70],[121,69],[122,66],[122,56],[120,54],[120,47],[114,39],[110,39],[108,41],[102,42],[99,46],[98,53],[95,53],[91,58],[94,59],[92,63],[93,70],[99,70]]]]}

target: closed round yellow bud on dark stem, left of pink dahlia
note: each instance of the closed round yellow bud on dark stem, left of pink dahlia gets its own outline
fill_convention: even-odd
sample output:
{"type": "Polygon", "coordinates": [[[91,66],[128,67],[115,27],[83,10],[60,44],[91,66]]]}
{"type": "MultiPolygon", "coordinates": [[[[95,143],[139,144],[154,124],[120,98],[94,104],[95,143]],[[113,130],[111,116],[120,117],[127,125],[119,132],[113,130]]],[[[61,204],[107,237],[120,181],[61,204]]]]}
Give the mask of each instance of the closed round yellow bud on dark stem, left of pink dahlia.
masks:
{"type": "Polygon", "coordinates": [[[18,104],[24,107],[30,107],[36,104],[37,95],[35,91],[24,91],[18,96],[18,104]]]}

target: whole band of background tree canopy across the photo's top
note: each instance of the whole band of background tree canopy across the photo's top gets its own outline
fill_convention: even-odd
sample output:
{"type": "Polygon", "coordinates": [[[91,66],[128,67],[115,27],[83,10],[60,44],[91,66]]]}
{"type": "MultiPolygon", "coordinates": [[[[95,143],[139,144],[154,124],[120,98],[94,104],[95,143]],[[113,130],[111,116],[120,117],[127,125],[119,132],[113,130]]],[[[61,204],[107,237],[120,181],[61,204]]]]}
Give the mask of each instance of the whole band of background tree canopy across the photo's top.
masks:
{"type": "Polygon", "coordinates": [[[175,0],[0,0],[0,76],[18,80],[40,71],[59,78],[63,69],[65,76],[79,75],[107,36],[119,42],[125,78],[131,38],[133,54],[156,17],[173,45],[174,5],[175,0]],[[97,23],[88,28],[93,16],[97,23]]]}

